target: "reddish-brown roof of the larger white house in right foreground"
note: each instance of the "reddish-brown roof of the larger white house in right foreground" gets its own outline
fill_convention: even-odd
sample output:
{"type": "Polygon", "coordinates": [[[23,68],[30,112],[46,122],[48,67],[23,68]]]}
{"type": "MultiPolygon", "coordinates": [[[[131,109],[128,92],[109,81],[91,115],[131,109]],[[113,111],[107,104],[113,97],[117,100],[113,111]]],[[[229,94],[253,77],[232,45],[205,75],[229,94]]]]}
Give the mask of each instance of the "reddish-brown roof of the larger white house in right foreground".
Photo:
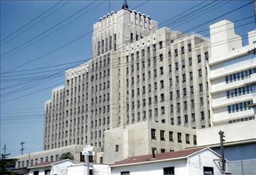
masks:
{"type": "MultiPolygon", "coordinates": [[[[110,165],[110,167],[118,167],[123,165],[132,165],[132,164],[144,164],[144,163],[150,163],[150,162],[160,162],[164,160],[182,159],[182,158],[187,158],[193,155],[194,153],[197,153],[198,151],[202,151],[203,149],[209,149],[209,148],[193,148],[193,149],[185,149],[182,151],[174,151],[169,153],[159,153],[159,154],[155,154],[155,158],[152,158],[151,154],[142,155],[142,156],[132,156],[124,160],[121,160],[119,162],[115,162],[114,164],[110,165]]],[[[212,151],[211,149],[209,150],[212,151]]]]}

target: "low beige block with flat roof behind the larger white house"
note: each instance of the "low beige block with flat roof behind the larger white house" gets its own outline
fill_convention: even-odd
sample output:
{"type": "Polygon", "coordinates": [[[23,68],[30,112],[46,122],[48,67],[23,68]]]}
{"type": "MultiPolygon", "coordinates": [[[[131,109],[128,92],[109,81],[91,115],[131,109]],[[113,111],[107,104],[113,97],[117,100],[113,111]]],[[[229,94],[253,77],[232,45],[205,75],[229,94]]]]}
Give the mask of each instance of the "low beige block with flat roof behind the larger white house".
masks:
{"type": "Polygon", "coordinates": [[[97,159],[113,164],[130,156],[178,151],[195,145],[196,130],[192,128],[143,121],[105,131],[104,153],[97,159]]]}

